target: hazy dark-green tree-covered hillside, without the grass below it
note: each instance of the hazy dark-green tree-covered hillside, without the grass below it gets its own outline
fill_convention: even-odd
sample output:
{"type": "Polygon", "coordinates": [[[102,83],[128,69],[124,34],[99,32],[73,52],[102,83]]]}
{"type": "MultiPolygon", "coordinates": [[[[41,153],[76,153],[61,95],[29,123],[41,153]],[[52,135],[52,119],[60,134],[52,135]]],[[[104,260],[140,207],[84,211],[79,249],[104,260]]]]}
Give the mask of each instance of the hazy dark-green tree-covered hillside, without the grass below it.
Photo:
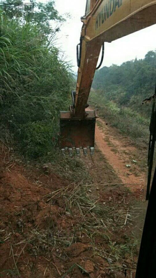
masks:
{"type": "Polygon", "coordinates": [[[149,51],[144,59],[103,67],[96,71],[93,89],[100,90],[106,100],[131,107],[144,115],[150,109],[142,107],[142,100],[154,94],[156,80],[156,51],[149,51]]]}

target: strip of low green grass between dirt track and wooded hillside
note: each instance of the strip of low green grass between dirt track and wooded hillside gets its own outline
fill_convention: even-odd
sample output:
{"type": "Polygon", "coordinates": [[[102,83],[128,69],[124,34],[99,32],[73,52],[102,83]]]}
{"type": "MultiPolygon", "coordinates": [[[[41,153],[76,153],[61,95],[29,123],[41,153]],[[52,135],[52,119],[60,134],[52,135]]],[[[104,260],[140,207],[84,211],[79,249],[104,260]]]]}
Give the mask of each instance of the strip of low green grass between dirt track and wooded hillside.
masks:
{"type": "Polygon", "coordinates": [[[118,128],[121,133],[130,136],[138,146],[148,143],[150,118],[107,100],[100,90],[91,92],[90,104],[98,109],[99,116],[118,128]]]}

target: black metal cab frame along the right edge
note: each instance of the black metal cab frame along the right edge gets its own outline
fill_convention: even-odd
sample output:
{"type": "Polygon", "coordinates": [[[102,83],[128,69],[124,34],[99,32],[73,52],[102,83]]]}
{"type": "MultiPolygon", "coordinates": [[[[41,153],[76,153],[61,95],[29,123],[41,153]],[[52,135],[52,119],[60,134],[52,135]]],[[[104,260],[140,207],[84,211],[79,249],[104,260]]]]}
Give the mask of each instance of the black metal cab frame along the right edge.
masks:
{"type": "Polygon", "coordinates": [[[156,166],[154,177],[150,189],[151,174],[154,157],[154,145],[156,140],[156,89],[153,100],[152,115],[150,122],[150,142],[148,153],[148,182],[146,200],[148,207],[142,233],[140,252],[135,278],[155,278],[156,277],[156,166]]]}

